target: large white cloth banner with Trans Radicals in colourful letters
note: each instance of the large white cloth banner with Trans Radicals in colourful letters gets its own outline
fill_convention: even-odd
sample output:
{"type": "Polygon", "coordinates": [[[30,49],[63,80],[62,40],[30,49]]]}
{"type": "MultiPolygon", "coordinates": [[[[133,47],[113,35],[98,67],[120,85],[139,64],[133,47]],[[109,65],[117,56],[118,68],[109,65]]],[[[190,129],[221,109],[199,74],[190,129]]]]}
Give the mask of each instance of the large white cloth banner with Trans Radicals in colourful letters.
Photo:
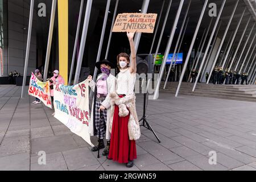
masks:
{"type": "Polygon", "coordinates": [[[65,86],[54,82],[54,117],[93,146],[90,142],[88,89],[88,80],[73,86],[65,86]]]}

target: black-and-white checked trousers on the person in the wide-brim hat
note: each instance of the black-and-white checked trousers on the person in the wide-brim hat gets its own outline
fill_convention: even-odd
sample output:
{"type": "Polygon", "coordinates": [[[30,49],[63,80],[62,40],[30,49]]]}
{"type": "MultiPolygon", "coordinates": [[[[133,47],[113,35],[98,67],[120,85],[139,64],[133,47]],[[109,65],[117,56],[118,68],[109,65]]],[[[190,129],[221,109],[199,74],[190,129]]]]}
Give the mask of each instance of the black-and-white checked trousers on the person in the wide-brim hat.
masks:
{"type": "Polygon", "coordinates": [[[100,109],[101,103],[105,100],[105,98],[96,98],[96,108],[95,108],[95,126],[96,126],[96,131],[97,131],[97,137],[100,139],[104,139],[106,136],[106,121],[107,121],[107,110],[101,110],[100,109]],[[101,125],[101,128],[100,128],[101,125]]]}

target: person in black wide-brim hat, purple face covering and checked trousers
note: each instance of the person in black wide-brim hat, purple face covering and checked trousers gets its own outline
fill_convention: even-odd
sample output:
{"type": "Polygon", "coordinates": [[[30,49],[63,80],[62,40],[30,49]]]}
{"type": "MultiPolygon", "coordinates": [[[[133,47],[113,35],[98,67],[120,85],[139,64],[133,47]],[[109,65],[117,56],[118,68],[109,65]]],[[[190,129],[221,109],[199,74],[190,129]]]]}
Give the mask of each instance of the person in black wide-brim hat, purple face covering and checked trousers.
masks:
{"type": "Polygon", "coordinates": [[[92,76],[88,76],[89,86],[94,92],[90,117],[90,135],[98,138],[97,146],[92,148],[93,152],[105,147],[104,138],[106,137],[107,144],[102,152],[102,155],[106,156],[109,154],[110,147],[110,93],[115,91],[116,79],[110,73],[110,69],[114,68],[110,61],[104,59],[98,61],[95,66],[101,71],[101,74],[98,75],[96,82],[93,81],[92,76]]]}

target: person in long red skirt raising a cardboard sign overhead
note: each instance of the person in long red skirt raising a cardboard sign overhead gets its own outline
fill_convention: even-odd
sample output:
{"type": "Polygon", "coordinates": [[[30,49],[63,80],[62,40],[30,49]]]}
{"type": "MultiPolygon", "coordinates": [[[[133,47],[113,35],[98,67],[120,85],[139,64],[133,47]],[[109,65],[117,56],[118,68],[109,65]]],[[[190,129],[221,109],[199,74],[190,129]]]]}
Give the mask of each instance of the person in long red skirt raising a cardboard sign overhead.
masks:
{"type": "MultiPolygon", "coordinates": [[[[126,163],[127,167],[133,167],[134,159],[137,159],[137,150],[135,140],[131,138],[134,129],[129,128],[129,119],[135,119],[138,123],[138,117],[135,109],[134,85],[136,79],[136,55],[134,47],[135,32],[127,32],[130,42],[131,60],[127,53],[119,53],[117,56],[117,66],[119,73],[117,75],[117,85],[113,105],[113,119],[110,119],[111,139],[109,155],[107,159],[126,163]],[[130,65],[129,65],[130,64],[130,65]],[[126,107],[127,106],[127,107],[126,107]],[[127,113],[125,113],[127,110],[127,113]]],[[[138,129],[137,129],[138,130],[138,129]]],[[[139,136],[140,136],[140,131],[139,136]]],[[[139,137],[138,137],[139,138],[139,137]]],[[[137,139],[138,139],[137,138],[137,139]]]]}

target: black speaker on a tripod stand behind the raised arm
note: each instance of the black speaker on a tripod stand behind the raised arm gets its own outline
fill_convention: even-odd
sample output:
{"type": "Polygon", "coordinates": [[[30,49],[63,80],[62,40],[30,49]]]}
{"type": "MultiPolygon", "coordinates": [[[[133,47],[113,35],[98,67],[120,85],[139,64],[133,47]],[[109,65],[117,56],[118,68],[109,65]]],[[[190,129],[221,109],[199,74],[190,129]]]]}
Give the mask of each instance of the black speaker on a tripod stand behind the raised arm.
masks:
{"type": "Polygon", "coordinates": [[[153,73],[154,72],[154,57],[148,54],[141,54],[136,56],[137,73],[153,73]]]}

